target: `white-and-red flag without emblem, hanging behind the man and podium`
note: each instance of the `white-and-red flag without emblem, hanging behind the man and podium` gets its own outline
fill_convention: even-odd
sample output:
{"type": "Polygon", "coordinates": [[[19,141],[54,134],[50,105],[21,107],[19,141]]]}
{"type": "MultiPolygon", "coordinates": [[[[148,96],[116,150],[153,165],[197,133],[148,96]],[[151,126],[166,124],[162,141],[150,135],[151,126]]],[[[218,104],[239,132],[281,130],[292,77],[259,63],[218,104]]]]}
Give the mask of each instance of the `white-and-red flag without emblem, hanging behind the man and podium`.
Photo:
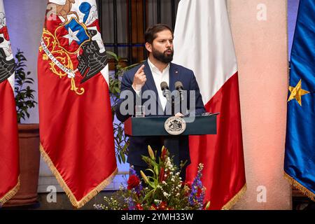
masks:
{"type": "Polygon", "coordinates": [[[216,135],[190,137],[193,181],[202,183],[210,209],[230,209],[246,191],[237,59],[225,0],[182,0],[174,31],[174,62],[195,72],[207,112],[219,112],[216,135]]]}

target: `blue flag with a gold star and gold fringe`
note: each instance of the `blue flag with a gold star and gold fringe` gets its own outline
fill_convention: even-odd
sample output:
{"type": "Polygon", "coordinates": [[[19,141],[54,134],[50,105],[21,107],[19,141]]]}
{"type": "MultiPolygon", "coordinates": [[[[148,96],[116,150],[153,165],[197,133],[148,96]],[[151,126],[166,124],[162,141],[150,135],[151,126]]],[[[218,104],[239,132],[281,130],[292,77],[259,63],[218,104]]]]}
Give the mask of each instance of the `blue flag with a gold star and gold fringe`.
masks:
{"type": "Polygon", "coordinates": [[[315,199],[315,1],[300,0],[290,59],[285,177],[315,199]]]}

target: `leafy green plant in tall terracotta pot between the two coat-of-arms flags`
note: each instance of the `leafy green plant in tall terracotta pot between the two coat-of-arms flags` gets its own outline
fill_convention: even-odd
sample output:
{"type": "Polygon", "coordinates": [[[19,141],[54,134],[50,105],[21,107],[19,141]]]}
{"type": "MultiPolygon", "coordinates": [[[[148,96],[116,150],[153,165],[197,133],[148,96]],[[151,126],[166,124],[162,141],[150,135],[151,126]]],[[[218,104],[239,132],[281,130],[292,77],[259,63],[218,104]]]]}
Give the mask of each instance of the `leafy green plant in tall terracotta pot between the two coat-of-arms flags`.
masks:
{"type": "Polygon", "coordinates": [[[6,203],[6,207],[37,203],[37,187],[40,164],[39,125],[21,124],[29,118],[29,109],[34,108],[34,92],[29,84],[34,84],[29,71],[25,71],[27,59],[18,49],[15,55],[15,104],[18,113],[20,145],[20,190],[6,203]]]}

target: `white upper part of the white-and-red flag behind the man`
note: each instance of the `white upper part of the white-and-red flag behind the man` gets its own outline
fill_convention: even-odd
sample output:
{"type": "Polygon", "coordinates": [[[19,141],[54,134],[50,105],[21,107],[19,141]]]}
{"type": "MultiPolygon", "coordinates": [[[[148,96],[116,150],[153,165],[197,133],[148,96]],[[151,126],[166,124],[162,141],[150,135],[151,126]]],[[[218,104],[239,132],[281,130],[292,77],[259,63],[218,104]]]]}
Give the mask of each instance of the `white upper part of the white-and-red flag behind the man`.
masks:
{"type": "Polygon", "coordinates": [[[194,71],[204,104],[237,72],[225,0],[180,1],[174,31],[174,63],[194,71]]]}

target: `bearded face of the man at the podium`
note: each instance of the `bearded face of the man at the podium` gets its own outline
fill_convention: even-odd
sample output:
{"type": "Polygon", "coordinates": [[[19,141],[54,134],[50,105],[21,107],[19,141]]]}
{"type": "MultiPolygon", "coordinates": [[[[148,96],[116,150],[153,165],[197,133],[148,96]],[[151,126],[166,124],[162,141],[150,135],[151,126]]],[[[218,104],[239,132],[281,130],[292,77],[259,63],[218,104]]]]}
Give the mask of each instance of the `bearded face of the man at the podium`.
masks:
{"type": "Polygon", "coordinates": [[[158,32],[151,45],[151,52],[160,62],[165,64],[172,62],[174,55],[172,32],[168,29],[158,32]]]}

